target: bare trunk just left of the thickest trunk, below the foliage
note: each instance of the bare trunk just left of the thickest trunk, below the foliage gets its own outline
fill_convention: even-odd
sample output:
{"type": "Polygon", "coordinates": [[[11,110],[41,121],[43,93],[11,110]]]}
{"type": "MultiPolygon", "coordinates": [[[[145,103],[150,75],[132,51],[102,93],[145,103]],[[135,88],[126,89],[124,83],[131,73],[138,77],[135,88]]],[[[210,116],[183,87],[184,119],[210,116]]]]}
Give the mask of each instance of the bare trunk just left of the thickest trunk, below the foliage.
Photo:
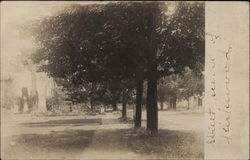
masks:
{"type": "Polygon", "coordinates": [[[142,96],[143,96],[143,79],[140,78],[136,83],[135,128],[141,127],[142,96]]]}

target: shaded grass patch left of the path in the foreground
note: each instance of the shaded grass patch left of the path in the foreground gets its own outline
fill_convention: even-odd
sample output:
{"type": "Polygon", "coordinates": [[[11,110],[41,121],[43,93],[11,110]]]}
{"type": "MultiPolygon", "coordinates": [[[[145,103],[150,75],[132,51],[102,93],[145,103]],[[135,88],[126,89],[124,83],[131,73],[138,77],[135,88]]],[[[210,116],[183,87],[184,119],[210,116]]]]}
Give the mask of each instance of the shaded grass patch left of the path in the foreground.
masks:
{"type": "Polygon", "coordinates": [[[94,130],[52,131],[49,134],[21,134],[11,137],[3,148],[6,159],[72,158],[92,143],[94,130]]]}

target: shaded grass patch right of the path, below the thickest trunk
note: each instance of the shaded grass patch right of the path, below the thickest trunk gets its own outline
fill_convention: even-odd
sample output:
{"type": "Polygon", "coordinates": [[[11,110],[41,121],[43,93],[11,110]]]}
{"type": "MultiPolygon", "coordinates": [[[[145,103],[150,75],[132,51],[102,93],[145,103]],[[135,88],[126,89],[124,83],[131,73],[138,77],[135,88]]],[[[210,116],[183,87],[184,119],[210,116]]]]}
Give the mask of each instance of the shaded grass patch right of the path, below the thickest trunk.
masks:
{"type": "Polygon", "coordinates": [[[159,158],[204,158],[203,134],[159,130],[157,136],[144,133],[129,138],[129,145],[137,153],[157,155],[159,158]]]}

